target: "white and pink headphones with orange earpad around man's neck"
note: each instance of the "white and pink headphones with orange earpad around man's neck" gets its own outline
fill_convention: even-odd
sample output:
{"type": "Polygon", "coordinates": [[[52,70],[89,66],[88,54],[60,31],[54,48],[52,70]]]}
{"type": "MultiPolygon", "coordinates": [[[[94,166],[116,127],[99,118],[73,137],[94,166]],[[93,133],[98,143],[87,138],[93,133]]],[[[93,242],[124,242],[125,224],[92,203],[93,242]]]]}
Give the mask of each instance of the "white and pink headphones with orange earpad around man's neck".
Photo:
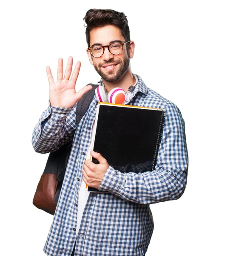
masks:
{"type": "Polygon", "coordinates": [[[98,102],[108,102],[108,103],[115,103],[115,104],[124,104],[128,100],[132,99],[133,91],[135,89],[135,85],[138,82],[138,78],[134,75],[136,82],[134,85],[131,85],[128,88],[128,91],[125,91],[120,88],[116,87],[113,88],[109,93],[106,92],[102,79],[98,82],[99,86],[95,89],[95,95],[97,97],[98,102]]]}

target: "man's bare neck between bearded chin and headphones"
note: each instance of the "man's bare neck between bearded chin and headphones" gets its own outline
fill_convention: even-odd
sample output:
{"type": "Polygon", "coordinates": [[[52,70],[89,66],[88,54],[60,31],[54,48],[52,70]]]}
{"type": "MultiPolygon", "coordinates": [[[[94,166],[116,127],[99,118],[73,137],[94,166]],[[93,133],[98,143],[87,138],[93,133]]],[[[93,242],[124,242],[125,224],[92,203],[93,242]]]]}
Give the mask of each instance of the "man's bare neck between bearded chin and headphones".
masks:
{"type": "Polygon", "coordinates": [[[134,83],[136,82],[130,67],[128,68],[128,70],[126,70],[125,74],[118,79],[117,81],[114,82],[108,82],[106,80],[103,79],[104,82],[104,86],[105,86],[105,90],[107,91],[107,93],[109,93],[113,88],[116,87],[120,87],[122,88],[125,92],[128,91],[128,88],[131,85],[134,85],[134,83]]]}

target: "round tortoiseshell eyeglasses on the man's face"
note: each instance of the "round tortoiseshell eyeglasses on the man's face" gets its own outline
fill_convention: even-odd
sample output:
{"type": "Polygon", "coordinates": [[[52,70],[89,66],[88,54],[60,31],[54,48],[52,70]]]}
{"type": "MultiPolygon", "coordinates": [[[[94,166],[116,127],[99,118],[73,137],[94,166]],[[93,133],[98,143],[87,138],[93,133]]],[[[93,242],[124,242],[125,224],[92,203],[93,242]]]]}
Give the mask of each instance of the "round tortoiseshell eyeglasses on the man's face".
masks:
{"type": "Polygon", "coordinates": [[[91,52],[91,55],[95,58],[99,58],[104,54],[104,50],[108,47],[109,52],[113,55],[119,55],[123,51],[123,45],[129,43],[112,43],[109,45],[101,46],[101,45],[94,45],[92,47],[88,47],[88,50],[91,52]]]}

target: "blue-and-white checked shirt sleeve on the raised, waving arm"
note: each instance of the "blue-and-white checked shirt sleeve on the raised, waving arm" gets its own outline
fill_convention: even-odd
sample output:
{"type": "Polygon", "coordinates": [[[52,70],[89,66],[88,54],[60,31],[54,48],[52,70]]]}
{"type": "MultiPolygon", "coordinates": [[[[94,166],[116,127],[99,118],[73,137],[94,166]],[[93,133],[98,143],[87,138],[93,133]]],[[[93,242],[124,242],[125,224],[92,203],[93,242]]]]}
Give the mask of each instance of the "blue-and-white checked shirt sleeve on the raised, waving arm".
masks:
{"type": "Polygon", "coordinates": [[[76,107],[51,107],[43,111],[32,133],[32,145],[38,153],[56,151],[74,137],[76,125],[76,107]]]}

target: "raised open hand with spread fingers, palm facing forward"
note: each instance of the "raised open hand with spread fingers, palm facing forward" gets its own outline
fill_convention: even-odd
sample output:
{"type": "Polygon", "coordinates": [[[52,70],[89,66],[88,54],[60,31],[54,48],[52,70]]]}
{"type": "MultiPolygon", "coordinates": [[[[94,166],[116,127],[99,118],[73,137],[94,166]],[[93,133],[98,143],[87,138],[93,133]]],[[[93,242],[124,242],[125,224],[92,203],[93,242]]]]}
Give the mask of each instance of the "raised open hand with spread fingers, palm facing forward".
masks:
{"type": "Polygon", "coordinates": [[[65,69],[65,75],[63,77],[63,59],[59,58],[56,83],[54,83],[54,78],[52,76],[50,67],[46,67],[46,73],[49,81],[49,101],[51,107],[56,106],[73,108],[74,105],[82,98],[82,96],[88,92],[88,90],[91,90],[92,86],[88,85],[76,92],[75,84],[79,75],[81,63],[80,61],[77,61],[71,76],[72,66],[73,58],[69,57],[68,64],[65,69]]]}

